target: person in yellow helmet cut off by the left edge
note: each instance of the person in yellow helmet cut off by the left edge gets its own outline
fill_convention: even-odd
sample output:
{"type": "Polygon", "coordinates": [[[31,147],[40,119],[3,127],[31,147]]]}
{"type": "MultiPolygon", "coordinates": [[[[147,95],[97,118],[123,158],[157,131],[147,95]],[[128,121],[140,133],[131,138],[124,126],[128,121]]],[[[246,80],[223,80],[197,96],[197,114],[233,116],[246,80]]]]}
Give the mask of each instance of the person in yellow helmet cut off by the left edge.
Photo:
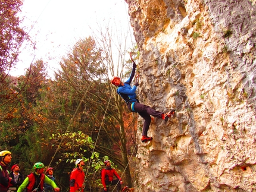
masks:
{"type": "Polygon", "coordinates": [[[0,152],[0,192],[6,192],[15,181],[10,177],[9,164],[11,163],[11,152],[3,150],[0,152]]]}

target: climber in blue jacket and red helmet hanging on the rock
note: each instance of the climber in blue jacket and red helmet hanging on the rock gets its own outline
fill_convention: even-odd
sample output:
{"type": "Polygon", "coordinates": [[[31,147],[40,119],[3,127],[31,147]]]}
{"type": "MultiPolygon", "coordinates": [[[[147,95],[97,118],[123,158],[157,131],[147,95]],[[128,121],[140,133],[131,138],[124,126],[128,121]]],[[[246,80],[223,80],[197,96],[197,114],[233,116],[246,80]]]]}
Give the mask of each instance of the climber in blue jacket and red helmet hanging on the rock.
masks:
{"type": "Polygon", "coordinates": [[[138,112],[138,114],[141,115],[143,119],[145,119],[141,141],[147,142],[153,139],[152,137],[148,137],[148,129],[151,123],[150,115],[162,118],[164,119],[164,121],[168,121],[168,118],[170,118],[171,115],[174,114],[175,110],[171,109],[170,112],[164,114],[164,112],[155,111],[149,106],[139,103],[139,100],[137,99],[136,96],[136,89],[139,86],[139,83],[135,82],[132,87],[130,86],[135,75],[136,67],[137,65],[135,64],[135,62],[133,62],[132,73],[124,83],[120,80],[120,77],[117,76],[111,78],[111,83],[114,84],[114,86],[118,87],[117,93],[125,100],[129,110],[132,112],[138,112]]]}

